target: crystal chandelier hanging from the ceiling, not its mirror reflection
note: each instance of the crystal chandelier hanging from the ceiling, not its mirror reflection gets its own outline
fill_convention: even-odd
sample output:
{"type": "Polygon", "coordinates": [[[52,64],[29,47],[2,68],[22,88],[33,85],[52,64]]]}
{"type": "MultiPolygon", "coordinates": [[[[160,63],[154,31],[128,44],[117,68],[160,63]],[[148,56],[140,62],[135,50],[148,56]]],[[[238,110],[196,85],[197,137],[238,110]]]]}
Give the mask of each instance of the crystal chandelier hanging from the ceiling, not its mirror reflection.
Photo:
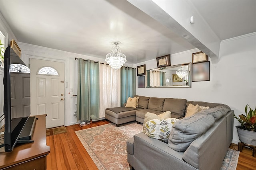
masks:
{"type": "Polygon", "coordinates": [[[115,47],[106,55],[106,62],[115,70],[121,68],[126,62],[126,56],[121,53],[118,42],[114,42],[115,47]]]}

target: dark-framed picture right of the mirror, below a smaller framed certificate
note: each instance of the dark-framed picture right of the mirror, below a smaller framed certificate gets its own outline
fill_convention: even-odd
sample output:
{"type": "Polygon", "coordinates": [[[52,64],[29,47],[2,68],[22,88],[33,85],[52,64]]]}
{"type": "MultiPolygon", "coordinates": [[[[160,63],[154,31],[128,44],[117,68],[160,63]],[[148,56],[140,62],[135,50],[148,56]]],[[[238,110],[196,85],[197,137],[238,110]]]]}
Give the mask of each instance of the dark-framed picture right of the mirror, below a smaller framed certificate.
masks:
{"type": "Polygon", "coordinates": [[[192,82],[210,81],[210,61],[192,64],[192,82]]]}

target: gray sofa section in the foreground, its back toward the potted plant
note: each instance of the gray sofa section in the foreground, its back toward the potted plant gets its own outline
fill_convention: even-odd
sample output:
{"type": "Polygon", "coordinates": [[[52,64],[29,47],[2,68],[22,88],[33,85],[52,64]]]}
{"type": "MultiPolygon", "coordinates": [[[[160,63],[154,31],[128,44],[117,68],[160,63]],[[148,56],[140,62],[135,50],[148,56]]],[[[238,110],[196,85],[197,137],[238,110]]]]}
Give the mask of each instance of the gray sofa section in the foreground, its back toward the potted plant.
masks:
{"type": "Polygon", "coordinates": [[[224,104],[187,102],[209,106],[176,121],[168,143],[144,133],[127,141],[127,160],[135,170],[219,170],[233,139],[233,111],[224,104]]]}

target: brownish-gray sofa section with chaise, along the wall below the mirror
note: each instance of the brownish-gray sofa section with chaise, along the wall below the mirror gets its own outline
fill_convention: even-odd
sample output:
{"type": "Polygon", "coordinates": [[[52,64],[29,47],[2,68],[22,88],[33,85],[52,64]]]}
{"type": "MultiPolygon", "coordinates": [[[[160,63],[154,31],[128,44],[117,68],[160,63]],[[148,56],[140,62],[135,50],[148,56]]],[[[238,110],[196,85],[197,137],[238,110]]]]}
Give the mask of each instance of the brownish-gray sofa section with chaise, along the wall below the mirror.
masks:
{"type": "Polygon", "coordinates": [[[145,96],[138,97],[138,108],[114,107],[107,108],[105,118],[115,123],[117,126],[130,121],[144,122],[146,112],[159,115],[165,111],[171,111],[172,117],[180,119],[185,115],[186,99],[174,98],[150,98],[145,96]]]}

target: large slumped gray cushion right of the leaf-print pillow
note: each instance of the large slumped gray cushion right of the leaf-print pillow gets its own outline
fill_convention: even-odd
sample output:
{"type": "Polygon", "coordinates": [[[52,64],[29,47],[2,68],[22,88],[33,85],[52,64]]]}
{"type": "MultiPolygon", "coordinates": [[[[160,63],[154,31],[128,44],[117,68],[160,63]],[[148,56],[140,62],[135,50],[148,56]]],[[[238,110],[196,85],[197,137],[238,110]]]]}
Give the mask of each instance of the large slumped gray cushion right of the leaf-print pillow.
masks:
{"type": "Polygon", "coordinates": [[[185,151],[195,139],[212,127],[214,122],[211,114],[195,114],[176,121],[170,132],[168,146],[178,152],[185,151]]]}

